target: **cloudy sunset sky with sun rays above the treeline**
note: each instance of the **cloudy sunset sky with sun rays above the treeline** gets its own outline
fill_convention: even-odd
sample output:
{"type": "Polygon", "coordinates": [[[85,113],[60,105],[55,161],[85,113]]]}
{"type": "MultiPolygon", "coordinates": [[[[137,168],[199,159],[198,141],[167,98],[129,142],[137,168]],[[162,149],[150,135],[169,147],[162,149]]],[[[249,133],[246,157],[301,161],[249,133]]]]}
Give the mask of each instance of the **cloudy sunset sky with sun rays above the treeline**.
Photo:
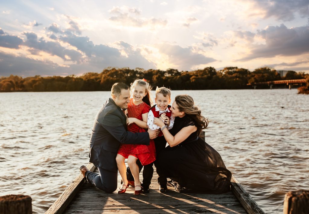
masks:
{"type": "Polygon", "coordinates": [[[210,66],[309,73],[309,0],[0,0],[0,76],[210,66]]]}

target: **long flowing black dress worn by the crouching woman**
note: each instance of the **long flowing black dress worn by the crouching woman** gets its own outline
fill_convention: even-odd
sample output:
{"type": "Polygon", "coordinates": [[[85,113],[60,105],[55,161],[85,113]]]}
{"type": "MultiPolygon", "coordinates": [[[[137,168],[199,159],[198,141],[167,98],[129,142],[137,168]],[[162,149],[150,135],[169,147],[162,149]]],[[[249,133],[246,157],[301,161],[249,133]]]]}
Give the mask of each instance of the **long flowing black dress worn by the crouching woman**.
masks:
{"type": "MultiPolygon", "coordinates": [[[[176,117],[169,131],[175,136],[187,126],[195,126],[190,115],[176,117]]],[[[231,188],[231,172],[226,169],[220,154],[198,137],[197,131],[179,145],[167,146],[157,160],[162,170],[159,176],[171,178],[176,191],[219,194],[231,188]]]]}

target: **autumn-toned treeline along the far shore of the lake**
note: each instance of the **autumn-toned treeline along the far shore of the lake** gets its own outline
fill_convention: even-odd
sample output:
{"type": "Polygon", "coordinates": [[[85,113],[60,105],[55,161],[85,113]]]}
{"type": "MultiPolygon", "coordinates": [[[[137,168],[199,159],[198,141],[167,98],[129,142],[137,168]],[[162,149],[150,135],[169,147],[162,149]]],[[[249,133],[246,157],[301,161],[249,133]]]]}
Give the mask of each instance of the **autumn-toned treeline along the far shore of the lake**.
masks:
{"type": "MultiPolygon", "coordinates": [[[[226,67],[217,71],[206,67],[194,71],[176,69],[144,70],[140,68],[108,68],[101,73],[85,73],[82,76],[26,77],[11,75],[0,78],[0,92],[17,91],[108,91],[115,82],[130,85],[136,78],[145,78],[155,89],[166,86],[172,90],[251,89],[248,83],[286,79],[308,78],[309,74],[288,71],[285,77],[269,67],[254,71],[238,67],[226,67]]],[[[268,86],[259,86],[259,88],[268,86]]]]}

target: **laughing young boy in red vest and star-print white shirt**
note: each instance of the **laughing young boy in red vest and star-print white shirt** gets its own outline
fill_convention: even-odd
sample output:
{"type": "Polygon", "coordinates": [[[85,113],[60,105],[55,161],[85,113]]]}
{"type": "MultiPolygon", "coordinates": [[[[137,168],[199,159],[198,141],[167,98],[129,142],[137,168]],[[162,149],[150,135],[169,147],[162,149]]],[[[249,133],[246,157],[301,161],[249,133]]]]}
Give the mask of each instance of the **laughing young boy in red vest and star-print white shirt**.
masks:
{"type": "MultiPolygon", "coordinates": [[[[150,108],[150,111],[148,113],[148,118],[147,118],[148,127],[151,130],[159,129],[160,127],[154,124],[154,119],[155,117],[156,118],[160,117],[161,120],[164,121],[168,129],[173,128],[175,118],[171,116],[172,114],[170,110],[171,106],[169,105],[171,103],[171,90],[169,90],[166,87],[161,87],[161,88],[157,87],[157,89],[155,90],[155,102],[156,104],[150,108]]],[[[159,133],[159,136],[154,139],[154,141],[155,141],[156,156],[158,157],[158,154],[160,153],[160,151],[162,151],[162,149],[164,149],[166,146],[166,140],[163,136],[162,131],[159,133]]],[[[137,164],[141,171],[142,165],[139,163],[139,161],[137,161],[137,164]]],[[[143,183],[142,183],[144,193],[149,192],[149,185],[150,185],[151,178],[154,172],[153,164],[155,164],[158,174],[160,172],[160,169],[158,169],[158,165],[156,161],[144,166],[143,183]]],[[[129,184],[133,186],[134,185],[134,182],[132,179],[133,176],[129,170],[129,167],[127,168],[127,178],[129,180],[129,184]]],[[[159,184],[160,183],[165,184],[165,185],[160,185],[160,188],[159,188],[160,192],[164,192],[167,190],[166,180],[167,180],[166,178],[158,177],[159,184]]]]}

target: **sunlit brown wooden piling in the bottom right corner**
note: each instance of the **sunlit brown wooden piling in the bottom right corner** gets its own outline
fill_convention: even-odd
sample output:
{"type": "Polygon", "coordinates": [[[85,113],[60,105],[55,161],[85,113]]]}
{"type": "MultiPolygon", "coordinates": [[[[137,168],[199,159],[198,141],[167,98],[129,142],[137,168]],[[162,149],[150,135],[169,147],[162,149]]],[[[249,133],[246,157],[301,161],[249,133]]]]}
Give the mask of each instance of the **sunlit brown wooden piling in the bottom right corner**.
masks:
{"type": "Polygon", "coordinates": [[[286,193],[283,204],[283,214],[308,214],[309,191],[298,190],[286,193]]]}

